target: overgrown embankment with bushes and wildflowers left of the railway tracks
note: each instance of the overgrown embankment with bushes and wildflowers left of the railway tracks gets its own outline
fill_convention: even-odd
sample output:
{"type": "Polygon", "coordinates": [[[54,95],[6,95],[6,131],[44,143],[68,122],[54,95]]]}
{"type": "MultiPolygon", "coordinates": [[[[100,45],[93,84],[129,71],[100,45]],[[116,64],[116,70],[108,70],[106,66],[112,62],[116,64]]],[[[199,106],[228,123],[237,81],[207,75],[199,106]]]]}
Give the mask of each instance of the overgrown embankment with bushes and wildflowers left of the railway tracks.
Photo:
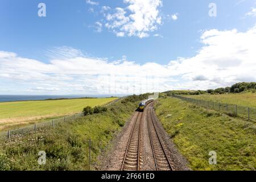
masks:
{"type": "Polygon", "coordinates": [[[108,111],[88,115],[75,122],[61,123],[0,143],[0,170],[86,170],[88,139],[92,139],[92,163],[106,150],[114,134],[121,130],[146,96],[129,97],[108,106],[108,111]],[[38,164],[38,152],[46,152],[46,165],[38,164]]]}

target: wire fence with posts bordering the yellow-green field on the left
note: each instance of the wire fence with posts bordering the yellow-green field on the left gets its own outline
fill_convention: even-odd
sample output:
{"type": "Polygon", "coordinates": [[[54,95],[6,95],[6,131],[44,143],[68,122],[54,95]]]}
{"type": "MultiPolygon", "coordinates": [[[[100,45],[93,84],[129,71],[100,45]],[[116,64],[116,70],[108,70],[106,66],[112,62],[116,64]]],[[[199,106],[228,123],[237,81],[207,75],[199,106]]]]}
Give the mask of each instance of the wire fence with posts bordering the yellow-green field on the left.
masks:
{"type": "MultiPolygon", "coordinates": [[[[105,104],[104,106],[109,106],[114,104],[115,102],[121,100],[121,97],[118,98],[117,100],[114,100],[108,104],[105,104]]],[[[41,123],[35,123],[34,125],[26,126],[26,127],[21,127],[19,129],[14,129],[14,130],[9,130],[9,131],[3,131],[0,133],[0,138],[1,139],[10,139],[12,135],[20,135],[20,134],[26,134],[30,132],[36,132],[37,130],[44,129],[46,127],[55,127],[59,123],[63,122],[71,122],[71,121],[76,121],[77,118],[82,117],[83,113],[82,111],[76,114],[68,115],[65,117],[57,118],[57,119],[49,119],[49,121],[46,122],[41,122],[41,123]]]]}

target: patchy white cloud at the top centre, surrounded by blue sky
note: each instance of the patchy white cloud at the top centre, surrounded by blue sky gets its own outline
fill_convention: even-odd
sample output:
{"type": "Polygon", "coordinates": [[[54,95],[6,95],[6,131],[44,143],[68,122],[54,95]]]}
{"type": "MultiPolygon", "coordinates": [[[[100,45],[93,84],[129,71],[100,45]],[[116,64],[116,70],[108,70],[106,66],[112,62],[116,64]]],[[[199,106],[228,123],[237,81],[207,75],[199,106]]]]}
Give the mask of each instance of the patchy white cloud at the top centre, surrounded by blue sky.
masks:
{"type": "Polygon", "coordinates": [[[162,23],[162,17],[159,14],[162,1],[124,0],[123,2],[127,6],[124,9],[116,7],[112,13],[106,12],[111,10],[110,7],[102,7],[105,26],[115,34],[123,32],[127,36],[146,38],[162,23]]]}

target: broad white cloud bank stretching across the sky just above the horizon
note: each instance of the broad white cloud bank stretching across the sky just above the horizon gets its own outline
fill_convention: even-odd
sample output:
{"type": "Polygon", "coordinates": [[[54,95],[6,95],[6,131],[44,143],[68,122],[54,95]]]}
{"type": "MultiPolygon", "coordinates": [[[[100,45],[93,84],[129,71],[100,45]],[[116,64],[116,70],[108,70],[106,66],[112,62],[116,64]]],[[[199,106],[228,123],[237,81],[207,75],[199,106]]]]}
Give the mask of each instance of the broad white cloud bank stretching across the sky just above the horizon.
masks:
{"type": "Polygon", "coordinates": [[[47,51],[49,63],[0,51],[0,85],[6,90],[1,93],[9,93],[11,83],[16,92],[89,94],[209,89],[256,80],[256,25],[246,32],[208,30],[200,39],[203,47],[196,56],[167,65],[137,64],[126,57],[110,62],[69,47],[47,51]]]}

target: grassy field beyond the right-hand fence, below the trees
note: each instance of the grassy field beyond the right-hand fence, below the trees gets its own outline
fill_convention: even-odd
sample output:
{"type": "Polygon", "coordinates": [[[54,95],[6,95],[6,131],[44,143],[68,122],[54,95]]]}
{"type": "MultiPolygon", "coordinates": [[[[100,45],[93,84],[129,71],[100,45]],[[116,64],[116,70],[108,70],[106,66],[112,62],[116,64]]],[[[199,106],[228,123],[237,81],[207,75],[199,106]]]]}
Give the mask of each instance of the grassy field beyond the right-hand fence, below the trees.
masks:
{"type": "Polygon", "coordinates": [[[201,94],[185,97],[256,108],[256,93],[201,94]]]}

